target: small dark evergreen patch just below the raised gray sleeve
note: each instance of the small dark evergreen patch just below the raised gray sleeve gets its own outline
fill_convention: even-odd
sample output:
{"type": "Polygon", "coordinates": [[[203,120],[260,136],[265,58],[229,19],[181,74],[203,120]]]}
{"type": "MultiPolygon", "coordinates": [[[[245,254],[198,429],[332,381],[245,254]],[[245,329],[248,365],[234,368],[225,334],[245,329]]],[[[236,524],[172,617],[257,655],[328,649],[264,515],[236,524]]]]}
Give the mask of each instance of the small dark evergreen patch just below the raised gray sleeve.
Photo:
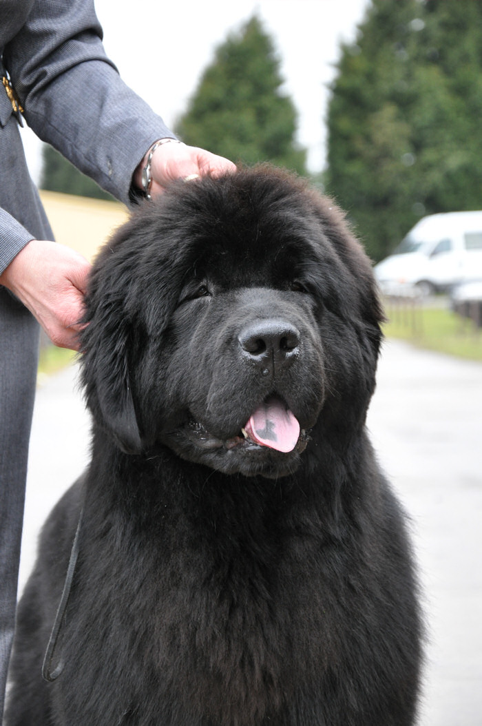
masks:
{"type": "Polygon", "coordinates": [[[49,144],[42,148],[42,173],[40,188],[51,192],[63,192],[80,197],[112,200],[113,197],[101,189],[89,176],[78,171],[73,164],[65,159],[49,144]]]}

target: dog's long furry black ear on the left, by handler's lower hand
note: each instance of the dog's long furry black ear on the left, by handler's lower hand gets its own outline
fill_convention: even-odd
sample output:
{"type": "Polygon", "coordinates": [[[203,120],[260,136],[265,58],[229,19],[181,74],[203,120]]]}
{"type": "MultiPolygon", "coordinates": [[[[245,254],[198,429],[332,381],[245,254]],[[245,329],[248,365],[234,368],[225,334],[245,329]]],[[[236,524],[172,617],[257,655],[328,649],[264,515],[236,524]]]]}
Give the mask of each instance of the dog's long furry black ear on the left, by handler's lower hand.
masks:
{"type": "MultiPolygon", "coordinates": [[[[179,189],[187,186],[180,183],[179,189]]],[[[176,210],[177,193],[173,184],[162,199],[131,213],[99,251],[85,297],[81,376],[86,401],[97,425],[128,454],[148,445],[136,417],[137,361],[152,331],[158,337],[168,324],[185,269],[179,242],[187,233],[180,224],[184,216],[176,210]]]]}

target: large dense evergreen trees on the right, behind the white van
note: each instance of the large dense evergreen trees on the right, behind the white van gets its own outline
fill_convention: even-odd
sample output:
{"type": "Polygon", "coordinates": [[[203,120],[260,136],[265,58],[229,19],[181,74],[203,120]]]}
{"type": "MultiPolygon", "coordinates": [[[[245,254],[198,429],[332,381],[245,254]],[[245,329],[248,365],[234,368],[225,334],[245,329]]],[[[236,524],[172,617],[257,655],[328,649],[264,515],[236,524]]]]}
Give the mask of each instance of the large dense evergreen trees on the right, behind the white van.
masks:
{"type": "Polygon", "coordinates": [[[327,191],[375,260],[425,214],[482,208],[482,3],[372,0],[342,46],[327,191]]]}

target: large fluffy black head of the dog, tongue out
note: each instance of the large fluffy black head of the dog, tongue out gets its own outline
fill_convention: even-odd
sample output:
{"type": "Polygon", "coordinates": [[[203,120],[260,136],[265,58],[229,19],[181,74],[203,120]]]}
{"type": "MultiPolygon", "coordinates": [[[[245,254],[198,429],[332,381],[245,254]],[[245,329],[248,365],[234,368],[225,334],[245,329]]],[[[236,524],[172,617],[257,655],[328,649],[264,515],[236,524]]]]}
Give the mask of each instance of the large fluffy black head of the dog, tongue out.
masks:
{"type": "Polygon", "coordinates": [[[94,265],[86,399],[124,452],[282,476],[311,430],[362,427],[381,318],[343,214],[303,181],[258,167],[179,182],[94,265]]]}

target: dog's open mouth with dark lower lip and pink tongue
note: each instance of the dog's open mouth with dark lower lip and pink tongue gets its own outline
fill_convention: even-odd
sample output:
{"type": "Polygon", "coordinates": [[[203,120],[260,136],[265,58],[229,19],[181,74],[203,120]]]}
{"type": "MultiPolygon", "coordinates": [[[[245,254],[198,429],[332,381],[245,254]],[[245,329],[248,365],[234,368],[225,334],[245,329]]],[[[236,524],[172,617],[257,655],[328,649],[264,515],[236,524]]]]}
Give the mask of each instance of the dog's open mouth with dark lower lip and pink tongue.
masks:
{"type": "Polygon", "coordinates": [[[266,447],[289,453],[303,450],[308,441],[297,418],[278,396],[270,396],[250,415],[237,436],[218,439],[197,421],[190,421],[187,436],[203,449],[261,449],[266,447]]]}

